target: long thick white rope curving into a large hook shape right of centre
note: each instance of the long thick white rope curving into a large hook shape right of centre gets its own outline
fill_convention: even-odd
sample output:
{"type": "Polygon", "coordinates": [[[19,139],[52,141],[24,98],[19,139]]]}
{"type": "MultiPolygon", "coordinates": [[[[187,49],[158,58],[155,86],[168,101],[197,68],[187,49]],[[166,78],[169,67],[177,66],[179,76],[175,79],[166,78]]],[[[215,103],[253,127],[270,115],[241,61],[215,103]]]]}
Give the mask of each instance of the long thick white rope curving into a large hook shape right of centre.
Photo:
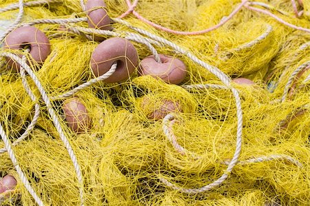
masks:
{"type": "Polygon", "coordinates": [[[189,57],[189,59],[192,59],[192,61],[198,63],[198,65],[203,66],[203,68],[206,68],[209,72],[211,72],[212,74],[217,76],[218,79],[220,79],[220,81],[222,81],[226,85],[226,87],[229,87],[231,92],[234,94],[234,98],[236,101],[237,119],[238,119],[237,120],[237,134],[236,134],[236,136],[237,136],[237,138],[236,138],[236,150],[235,150],[234,156],[233,156],[233,158],[231,158],[231,161],[230,161],[227,169],[225,170],[224,174],[222,176],[220,176],[220,178],[218,178],[213,183],[210,183],[209,185],[205,185],[204,187],[200,187],[200,188],[196,188],[196,189],[180,188],[180,187],[177,187],[176,185],[174,185],[172,183],[169,183],[169,181],[165,180],[164,178],[160,178],[161,181],[163,181],[163,183],[166,183],[166,185],[168,187],[172,187],[173,189],[177,189],[180,192],[185,192],[188,194],[196,194],[196,193],[200,193],[200,192],[206,192],[206,191],[209,191],[210,189],[214,189],[214,187],[217,187],[218,185],[221,185],[227,179],[227,177],[231,173],[232,169],[234,168],[234,166],[238,162],[238,157],[240,155],[241,146],[242,146],[242,107],[241,107],[241,100],[240,100],[240,96],[239,96],[238,91],[234,87],[231,87],[231,85],[230,85],[231,79],[229,78],[229,76],[224,74],[218,68],[216,68],[212,65],[209,65],[209,64],[205,63],[204,61],[201,61],[200,59],[198,59],[197,56],[195,56],[194,54],[192,54],[186,50],[183,50],[182,48],[180,48],[175,43],[172,43],[171,41],[168,41],[167,39],[163,39],[161,37],[158,37],[155,34],[147,32],[146,30],[136,28],[136,27],[130,25],[130,23],[128,23],[127,21],[124,21],[122,19],[113,19],[113,20],[118,22],[118,23],[121,23],[123,25],[127,25],[127,27],[131,28],[132,30],[135,30],[136,32],[144,34],[151,39],[154,39],[158,42],[161,42],[161,43],[164,43],[165,45],[168,45],[171,48],[174,48],[174,50],[176,52],[180,52],[181,54],[186,55],[187,57],[189,57]]]}

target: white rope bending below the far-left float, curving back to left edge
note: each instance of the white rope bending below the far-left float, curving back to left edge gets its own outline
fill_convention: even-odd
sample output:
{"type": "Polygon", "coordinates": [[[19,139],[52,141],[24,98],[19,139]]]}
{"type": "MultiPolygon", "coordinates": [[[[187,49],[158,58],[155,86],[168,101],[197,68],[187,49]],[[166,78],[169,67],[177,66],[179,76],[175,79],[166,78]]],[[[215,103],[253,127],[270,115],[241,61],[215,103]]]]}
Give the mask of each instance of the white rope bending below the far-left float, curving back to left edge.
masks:
{"type": "MultiPolygon", "coordinates": [[[[25,56],[23,56],[22,59],[23,59],[23,61],[25,61],[25,56]]],[[[34,96],[34,94],[32,93],[30,86],[28,85],[28,82],[25,79],[25,69],[23,69],[23,67],[21,67],[20,73],[21,73],[21,82],[23,83],[23,87],[25,88],[25,91],[27,92],[28,96],[30,96],[30,99],[32,101],[34,101],[34,102],[37,101],[36,96],[34,96]]],[[[34,105],[34,116],[33,116],[31,123],[28,125],[25,132],[23,132],[23,134],[21,134],[21,136],[19,138],[17,138],[17,140],[14,141],[14,143],[12,143],[12,146],[18,145],[21,141],[23,141],[28,136],[29,132],[32,131],[34,126],[37,124],[37,121],[39,119],[39,115],[40,115],[40,105],[39,105],[39,103],[36,103],[34,105]]],[[[6,148],[2,148],[2,149],[0,149],[0,154],[3,152],[7,152],[7,151],[8,150],[6,150],[6,148]]]]}

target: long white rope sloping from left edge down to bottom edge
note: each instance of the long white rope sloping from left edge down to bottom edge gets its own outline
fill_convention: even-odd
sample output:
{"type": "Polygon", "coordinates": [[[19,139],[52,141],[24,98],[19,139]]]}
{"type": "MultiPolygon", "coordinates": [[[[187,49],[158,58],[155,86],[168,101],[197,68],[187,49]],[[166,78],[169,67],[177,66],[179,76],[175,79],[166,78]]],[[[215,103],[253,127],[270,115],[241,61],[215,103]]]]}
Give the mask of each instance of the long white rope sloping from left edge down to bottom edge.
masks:
{"type": "Polygon", "coordinates": [[[72,146],[70,145],[70,142],[68,140],[68,138],[65,136],[63,129],[61,128],[61,124],[59,122],[58,117],[56,116],[54,109],[52,108],[52,104],[50,103],[50,99],[48,98],[48,95],[46,94],[43,86],[41,85],[41,82],[39,81],[39,79],[37,78],[37,76],[34,74],[34,72],[32,72],[31,68],[29,67],[29,65],[25,62],[22,61],[21,58],[19,58],[19,56],[15,55],[15,54],[10,54],[8,52],[3,52],[2,56],[7,56],[10,59],[16,61],[17,63],[19,63],[21,65],[21,67],[23,67],[25,69],[25,71],[29,74],[29,76],[32,78],[32,80],[34,81],[34,83],[37,85],[39,92],[41,93],[42,99],[45,103],[45,105],[48,107],[48,113],[50,114],[50,116],[52,117],[52,121],[56,127],[57,132],[59,132],[59,136],[61,137],[61,141],[63,141],[66,149],[68,150],[68,153],[70,155],[70,158],[72,160],[72,163],[74,165],[74,169],[76,172],[76,176],[78,178],[79,181],[79,189],[80,189],[80,198],[81,198],[81,205],[84,205],[84,198],[83,198],[83,177],[82,177],[82,172],[81,172],[81,166],[79,165],[76,156],[74,154],[74,151],[72,149],[72,146]]]}

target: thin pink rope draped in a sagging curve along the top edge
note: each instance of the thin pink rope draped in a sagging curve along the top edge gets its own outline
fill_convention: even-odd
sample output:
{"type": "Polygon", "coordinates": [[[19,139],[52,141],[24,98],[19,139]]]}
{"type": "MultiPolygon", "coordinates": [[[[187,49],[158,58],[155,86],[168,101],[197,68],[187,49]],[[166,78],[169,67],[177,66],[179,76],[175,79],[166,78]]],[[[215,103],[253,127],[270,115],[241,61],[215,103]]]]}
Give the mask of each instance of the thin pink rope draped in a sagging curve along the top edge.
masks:
{"type": "MultiPolygon", "coordinates": [[[[259,8],[251,7],[251,6],[247,5],[248,1],[249,0],[242,0],[242,3],[240,3],[240,5],[235,10],[233,10],[233,12],[231,12],[231,14],[229,14],[229,16],[227,18],[225,18],[223,21],[220,21],[220,23],[218,23],[217,25],[214,25],[211,28],[207,28],[205,30],[200,30],[200,31],[196,31],[196,32],[182,32],[182,31],[172,30],[172,29],[165,28],[165,27],[163,27],[161,25],[158,25],[156,23],[153,23],[152,21],[149,21],[149,20],[145,19],[140,14],[138,14],[138,12],[136,12],[134,10],[134,8],[136,8],[136,6],[137,6],[138,0],[135,0],[134,3],[131,3],[130,0],[126,0],[127,6],[128,6],[128,10],[125,13],[121,14],[121,16],[118,17],[118,18],[121,19],[123,17],[126,17],[128,14],[132,13],[132,14],[134,14],[134,16],[136,16],[136,18],[140,19],[144,23],[152,25],[152,27],[157,28],[158,30],[162,30],[162,31],[169,32],[169,33],[172,33],[172,34],[198,35],[198,34],[205,34],[207,32],[211,32],[213,30],[216,30],[217,28],[220,28],[220,26],[222,26],[225,23],[227,23],[227,21],[232,19],[232,17],[234,17],[234,15],[236,15],[236,13],[238,13],[242,9],[242,7],[245,6],[246,8],[248,8],[250,10],[254,10],[256,12],[260,12],[260,13],[266,14],[269,17],[272,17],[273,19],[276,19],[280,23],[283,23],[284,25],[287,25],[287,26],[289,26],[291,28],[294,28],[296,30],[301,30],[301,31],[304,31],[304,32],[310,32],[310,29],[302,28],[300,26],[288,23],[288,22],[284,21],[283,19],[281,19],[280,17],[277,17],[275,14],[272,14],[271,12],[269,12],[267,10],[262,10],[262,9],[259,9],[259,8]]],[[[294,9],[296,15],[298,17],[300,17],[302,15],[302,11],[298,12],[297,6],[296,6],[296,2],[294,0],[291,0],[291,2],[293,3],[293,9],[294,9]]],[[[298,0],[298,3],[300,4],[300,6],[302,6],[302,0],[298,0]]]]}

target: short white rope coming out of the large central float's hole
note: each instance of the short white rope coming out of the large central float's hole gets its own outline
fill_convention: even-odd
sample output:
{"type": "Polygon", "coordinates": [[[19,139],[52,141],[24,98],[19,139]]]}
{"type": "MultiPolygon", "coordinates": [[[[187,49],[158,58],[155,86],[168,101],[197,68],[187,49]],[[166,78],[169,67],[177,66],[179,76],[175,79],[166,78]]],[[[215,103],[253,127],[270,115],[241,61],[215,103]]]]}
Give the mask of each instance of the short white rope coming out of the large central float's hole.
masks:
{"type": "Polygon", "coordinates": [[[55,100],[55,99],[63,99],[65,97],[69,97],[69,96],[72,96],[73,94],[75,94],[76,92],[79,92],[80,90],[83,90],[87,87],[90,87],[90,85],[93,85],[94,83],[97,83],[99,81],[103,81],[107,78],[109,78],[112,74],[114,74],[115,70],[116,70],[116,67],[117,67],[117,62],[115,61],[110,70],[107,71],[105,74],[99,76],[98,78],[95,78],[95,79],[91,79],[90,81],[87,81],[86,83],[83,83],[81,85],[79,85],[78,87],[75,87],[73,90],[69,91],[69,92],[66,92],[65,94],[61,94],[59,96],[53,96],[51,99],[52,100],[55,100]]]}

